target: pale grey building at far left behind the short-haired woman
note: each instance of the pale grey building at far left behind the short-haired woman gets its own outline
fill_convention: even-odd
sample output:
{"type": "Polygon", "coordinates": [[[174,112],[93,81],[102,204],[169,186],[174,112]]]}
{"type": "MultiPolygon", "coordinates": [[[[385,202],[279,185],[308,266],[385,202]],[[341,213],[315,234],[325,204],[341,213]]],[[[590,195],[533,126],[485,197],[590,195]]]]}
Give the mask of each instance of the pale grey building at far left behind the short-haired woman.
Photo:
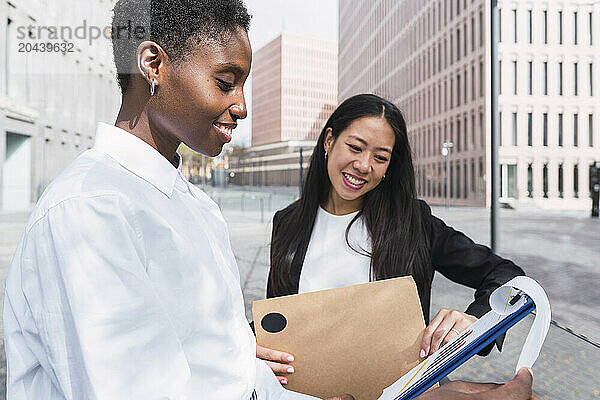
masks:
{"type": "Polygon", "coordinates": [[[0,210],[27,210],[119,105],[114,0],[0,2],[0,210]],[[54,33],[51,33],[54,32],[54,33]],[[95,34],[94,34],[95,35],[95,34]]]}

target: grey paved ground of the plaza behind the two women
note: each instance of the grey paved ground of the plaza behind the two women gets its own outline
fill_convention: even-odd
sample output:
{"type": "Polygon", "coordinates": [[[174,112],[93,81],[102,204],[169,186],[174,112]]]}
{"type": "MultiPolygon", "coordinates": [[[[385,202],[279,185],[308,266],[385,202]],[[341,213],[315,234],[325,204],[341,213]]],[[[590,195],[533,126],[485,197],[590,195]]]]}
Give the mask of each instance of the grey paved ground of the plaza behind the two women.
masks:
{"type": "MultiPolygon", "coordinates": [[[[229,224],[231,244],[238,261],[251,318],[251,301],[264,298],[269,267],[270,220],[273,211],[294,199],[294,191],[241,193],[207,191],[223,209],[229,224]],[[262,210],[262,211],[261,211],[262,210]]],[[[434,208],[434,214],[462,230],[475,241],[487,244],[488,210],[434,208]]],[[[499,253],[522,266],[546,289],[553,317],[560,324],[600,342],[600,221],[588,213],[519,212],[501,210],[499,253]]],[[[0,214],[0,276],[6,274],[27,214],[0,214]]],[[[2,279],[2,288],[4,279],[2,279]]],[[[2,290],[2,294],[3,294],[2,290]]],[[[432,313],[441,307],[464,309],[472,290],[437,276],[434,280],[432,313]]],[[[509,332],[502,353],[475,357],[455,371],[452,379],[505,381],[514,373],[528,324],[523,321],[509,332]]],[[[1,331],[0,331],[1,333],[1,331]]],[[[0,351],[0,399],[4,398],[4,351],[0,351]]],[[[535,389],[544,399],[600,398],[600,349],[572,334],[552,327],[534,367],[535,389]]]]}

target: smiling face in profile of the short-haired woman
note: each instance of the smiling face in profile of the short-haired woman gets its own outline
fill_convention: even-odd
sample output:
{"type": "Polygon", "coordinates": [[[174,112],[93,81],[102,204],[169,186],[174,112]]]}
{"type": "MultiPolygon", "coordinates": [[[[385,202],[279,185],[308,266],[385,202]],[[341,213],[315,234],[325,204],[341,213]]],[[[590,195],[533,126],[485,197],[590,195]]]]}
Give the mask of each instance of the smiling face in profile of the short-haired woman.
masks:
{"type": "Polygon", "coordinates": [[[163,64],[160,85],[148,107],[153,131],[176,148],[179,142],[216,156],[246,118],[244,82],[252,50],[246,31],[231,32],[223,45],[197,45],[185,60],[163,64]]]}

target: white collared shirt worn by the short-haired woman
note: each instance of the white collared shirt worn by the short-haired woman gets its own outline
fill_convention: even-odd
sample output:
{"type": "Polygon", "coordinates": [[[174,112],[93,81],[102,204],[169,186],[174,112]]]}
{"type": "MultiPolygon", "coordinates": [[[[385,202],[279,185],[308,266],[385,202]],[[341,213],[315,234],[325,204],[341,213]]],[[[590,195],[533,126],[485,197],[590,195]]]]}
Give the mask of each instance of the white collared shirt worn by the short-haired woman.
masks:
{"type": "Polygon", "coordinates": [[[35,207],[6,279],[9,399],[307,398],[255,357],[217,205],[100,124],[35,207]]]}

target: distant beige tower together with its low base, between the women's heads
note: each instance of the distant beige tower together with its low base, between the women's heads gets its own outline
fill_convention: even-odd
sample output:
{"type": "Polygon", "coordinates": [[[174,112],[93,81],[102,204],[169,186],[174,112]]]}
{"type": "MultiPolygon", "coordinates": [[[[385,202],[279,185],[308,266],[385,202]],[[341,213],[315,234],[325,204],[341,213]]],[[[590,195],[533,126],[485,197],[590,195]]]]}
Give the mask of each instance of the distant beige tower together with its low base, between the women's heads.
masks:
{"type": "Polygon", "coordinates": [[[229,181],[298,185],[301,169],[308,166],[315,141],[336,107],[337,83],[336,42],[283,33],[257,50],[252,147],[233,155],[229,181]]]}

